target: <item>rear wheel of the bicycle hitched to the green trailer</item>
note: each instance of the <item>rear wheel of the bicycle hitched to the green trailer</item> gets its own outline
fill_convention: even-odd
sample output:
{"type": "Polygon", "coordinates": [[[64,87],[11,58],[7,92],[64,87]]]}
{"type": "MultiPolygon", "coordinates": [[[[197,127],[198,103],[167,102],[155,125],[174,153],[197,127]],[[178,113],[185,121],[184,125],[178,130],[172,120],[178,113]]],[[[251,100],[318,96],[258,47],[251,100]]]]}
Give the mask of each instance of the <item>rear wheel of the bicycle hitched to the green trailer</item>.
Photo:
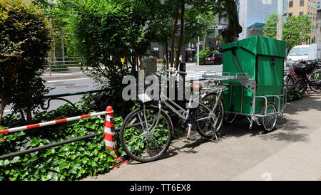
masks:
{"type": "Polygon", "coordinates": [[[224,106],[222,100],[215,93],[203,97],[196,112],[198,133],[207,139],[220,130],[224,118],[224,106]],[[215,105],[215,102],[218,101],[215,105]]]}

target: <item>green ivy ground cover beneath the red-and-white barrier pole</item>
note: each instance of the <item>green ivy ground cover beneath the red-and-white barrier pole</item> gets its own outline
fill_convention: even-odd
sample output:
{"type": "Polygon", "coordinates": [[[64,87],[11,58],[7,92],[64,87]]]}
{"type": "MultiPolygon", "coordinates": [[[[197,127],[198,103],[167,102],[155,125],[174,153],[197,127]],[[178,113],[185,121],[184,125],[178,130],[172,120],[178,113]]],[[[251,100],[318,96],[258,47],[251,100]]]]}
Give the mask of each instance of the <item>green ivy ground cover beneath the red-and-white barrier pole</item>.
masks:
{"type": "MultiPolygon", "coordinates": [[[[82,106],[81,106],[82,107],[82,106]]],[[[41,112],[35,120],[55,120],[81,114],[78,105],[64,105],[57,110],[41,112]]],[[[86,110],[86,109],[85,109],[86,110]]],[[[19,118],[13,115],[4,120],[6,125],[19,125],[19,118]]],[[[0,161],[0,180],[75,180],[83,176],[93,176],[110,170],[115,164],[115,152],[105,148],[103,142],[104,116],[90,117],[76,122],[41,127],[6,135],[0,143],[0,154],[23,151],[53,142],[61,142],[74,137],[97,133],[95,137],[70,144],[64,144],[39,152],[0,161]]],[[[114,117],[116,127],[121,125],[121,117],[114,117]]],[[[120,151],[122,152],[122,150],[120,151]]]]}

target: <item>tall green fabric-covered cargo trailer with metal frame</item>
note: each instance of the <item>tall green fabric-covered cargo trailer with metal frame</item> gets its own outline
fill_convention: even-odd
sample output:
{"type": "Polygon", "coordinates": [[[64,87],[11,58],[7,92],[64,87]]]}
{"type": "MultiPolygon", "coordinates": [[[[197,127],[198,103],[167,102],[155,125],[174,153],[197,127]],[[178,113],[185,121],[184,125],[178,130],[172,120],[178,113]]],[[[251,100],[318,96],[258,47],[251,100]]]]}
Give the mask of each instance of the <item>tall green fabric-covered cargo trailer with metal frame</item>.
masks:
{"type": "Polygon", "coordinates": [[[223,45],[223,73],[205,73],[203,78],[227,86],[221,93],[227,122],[236,115],[273,130],[277,115],[286,105],[283,87],[285,41],[253,36],[223,45]]]}

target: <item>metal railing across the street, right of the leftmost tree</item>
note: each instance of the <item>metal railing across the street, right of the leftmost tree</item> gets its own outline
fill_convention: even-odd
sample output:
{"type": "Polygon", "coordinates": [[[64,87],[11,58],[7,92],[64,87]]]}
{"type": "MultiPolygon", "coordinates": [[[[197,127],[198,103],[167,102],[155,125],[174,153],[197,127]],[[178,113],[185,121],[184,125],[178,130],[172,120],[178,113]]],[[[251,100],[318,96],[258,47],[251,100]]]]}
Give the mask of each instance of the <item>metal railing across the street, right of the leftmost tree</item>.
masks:
{"type": "Polygon", "coordinates": [[[71,73],[81,70],[81,58],[46,58],[48,65],[44,73],[71,73]]]}

